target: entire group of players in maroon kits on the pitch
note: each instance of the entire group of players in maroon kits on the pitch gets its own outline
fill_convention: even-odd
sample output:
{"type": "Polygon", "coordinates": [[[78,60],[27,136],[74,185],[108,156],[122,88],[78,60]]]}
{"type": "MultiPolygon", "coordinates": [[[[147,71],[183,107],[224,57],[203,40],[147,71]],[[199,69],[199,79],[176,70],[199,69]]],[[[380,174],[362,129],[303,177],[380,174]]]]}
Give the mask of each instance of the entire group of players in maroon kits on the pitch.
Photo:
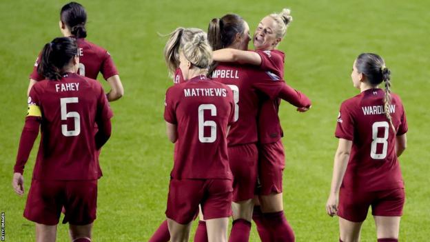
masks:
{"type": "MultiPolygon", "coordinates": [[[[248,241],[252,221],[263,242],[295,241],[283,208],[278,109],[284,100],[307,112],[311,101],[285,82],[285,54],[277,49],[292,20],[288,9],[269,14],[251,37],[243,18],[226,14],[209,21],[207,32],[177,28],[169,35],[164,56],[174,85],[165,94],[164,119],[174,166],[167,219],[150,241],[188,241],[197,217],[194,241],[248,241]]],[[[37,241],[56,240],[61,212],[72,241],[91,241],[96,219],[99,154],[112,130],[108,102],[122,97],[123,85],[110,54],[85,39],[86,21],[81,4],[63,6],[64,37],[45,44],[30,75],[12,185],[23,195],[24,166],[40,128],[24,210],[37,241]],[[110,84],[107,94],[94,80],[99,72],[110,84]]],[[[351,79],[360,94],[340,105],[327,214],[339,217],[339,241],[359,241],[371,206],[378,241],[398,241],[405,110],[378,54],[360,54],[351,79]]]]}

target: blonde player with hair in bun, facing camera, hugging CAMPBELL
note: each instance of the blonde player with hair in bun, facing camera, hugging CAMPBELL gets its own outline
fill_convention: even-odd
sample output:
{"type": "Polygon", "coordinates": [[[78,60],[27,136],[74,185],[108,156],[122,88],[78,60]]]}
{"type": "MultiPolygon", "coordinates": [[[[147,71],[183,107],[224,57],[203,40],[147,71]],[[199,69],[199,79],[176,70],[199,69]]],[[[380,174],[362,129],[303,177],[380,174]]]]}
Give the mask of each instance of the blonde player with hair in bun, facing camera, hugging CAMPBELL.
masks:
{"type": "MultiPolygon", "coordinates": [[[[284,78],[284,52],[277,49],[293,21],[291,10],[264,17],[254,32],[253,51],[223,48],[214,51],[214,61],[257,65],[261,70],[284,78]]],[[[294,241],[294,232],[283,213],[284,147],[283,130],[278,117],[280,99],[266,99],[258,111],[258,180],[260,189],[254,206],[253,220],[263,242],[294,241]]],[[[309,107],[308,107],[309,108],[309,107]]],[[[298,108],[305,112],[308,108],[298,108]]]]}

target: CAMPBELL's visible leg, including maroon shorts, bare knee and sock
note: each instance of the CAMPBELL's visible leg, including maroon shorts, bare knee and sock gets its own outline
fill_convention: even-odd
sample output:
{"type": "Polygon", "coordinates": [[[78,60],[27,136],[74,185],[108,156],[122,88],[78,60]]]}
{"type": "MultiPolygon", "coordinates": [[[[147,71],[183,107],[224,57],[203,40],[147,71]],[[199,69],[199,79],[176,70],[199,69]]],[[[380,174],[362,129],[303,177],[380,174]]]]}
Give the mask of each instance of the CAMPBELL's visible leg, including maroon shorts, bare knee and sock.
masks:
{"type": "Polygon", "coordinates": [[[228,152],[234,177],[233,225],[229,241],[248,241],[254,210],[258,150],[256,144],[247,144],[229,147],[228,152]]]}

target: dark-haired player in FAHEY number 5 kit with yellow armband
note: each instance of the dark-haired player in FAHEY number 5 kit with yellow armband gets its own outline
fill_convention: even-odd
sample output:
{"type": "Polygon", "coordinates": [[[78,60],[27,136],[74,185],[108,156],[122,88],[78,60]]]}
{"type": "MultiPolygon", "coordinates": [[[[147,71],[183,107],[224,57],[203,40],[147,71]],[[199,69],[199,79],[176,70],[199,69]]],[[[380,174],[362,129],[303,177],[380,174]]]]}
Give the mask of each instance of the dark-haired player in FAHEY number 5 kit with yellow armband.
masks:
{"type": "Polygon", "coordinates": [[[111,134],[112,111],[101,84],[76,74],[75,39],[46,43],[37,69],[46,79],[35,83],[28,96],[12,185],[17,194],[24,194],[24,167],[40,128],[24,216],[36,223],[36,241],[51,242],[65,208],[63,223],[69,223],[72,241],[90,242],[101,178],[98,154],[111,134]]]}

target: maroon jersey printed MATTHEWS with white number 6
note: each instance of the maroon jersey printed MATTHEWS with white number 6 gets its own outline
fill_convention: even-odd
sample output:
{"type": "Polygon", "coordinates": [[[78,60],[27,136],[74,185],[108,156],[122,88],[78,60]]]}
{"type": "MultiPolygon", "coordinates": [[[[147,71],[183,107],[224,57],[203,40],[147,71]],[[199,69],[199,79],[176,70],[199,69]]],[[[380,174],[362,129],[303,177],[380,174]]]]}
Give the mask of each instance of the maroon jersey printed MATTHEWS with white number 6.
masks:
{"type": "Polygon", "coordinates": [[[198,76],[167,89],[164,119],[177,125],[174,179],[232,179],[227,125],[234,99],[227,85],[198,76]]]}

